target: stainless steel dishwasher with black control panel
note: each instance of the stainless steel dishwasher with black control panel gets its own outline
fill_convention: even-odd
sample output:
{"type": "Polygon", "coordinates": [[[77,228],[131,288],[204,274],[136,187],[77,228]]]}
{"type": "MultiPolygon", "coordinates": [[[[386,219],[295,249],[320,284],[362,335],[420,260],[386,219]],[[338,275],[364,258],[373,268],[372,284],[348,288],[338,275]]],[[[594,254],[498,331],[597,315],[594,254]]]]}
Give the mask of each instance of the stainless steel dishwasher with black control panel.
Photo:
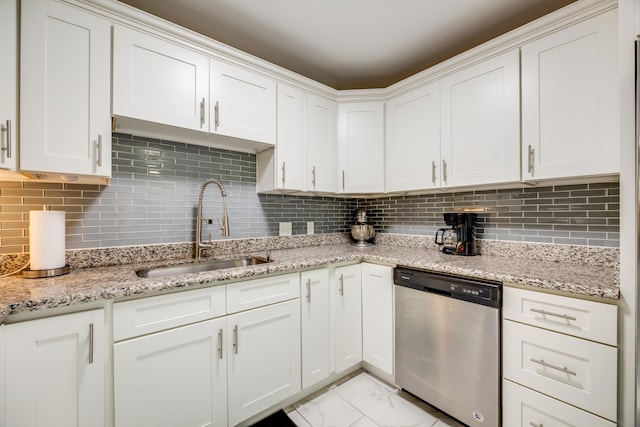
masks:
{"type": "Polygon", "coordinates": [[[478,427],[500,422],[502,285],[396,267],[396,384],[478,427]]]}

